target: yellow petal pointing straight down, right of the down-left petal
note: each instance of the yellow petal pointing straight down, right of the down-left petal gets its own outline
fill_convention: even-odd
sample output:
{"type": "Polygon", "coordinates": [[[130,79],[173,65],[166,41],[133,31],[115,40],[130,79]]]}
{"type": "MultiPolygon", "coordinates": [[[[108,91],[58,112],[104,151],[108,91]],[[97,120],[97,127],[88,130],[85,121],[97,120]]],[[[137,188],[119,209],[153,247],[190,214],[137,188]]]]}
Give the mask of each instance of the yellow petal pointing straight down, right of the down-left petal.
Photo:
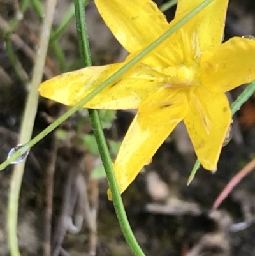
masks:
{"type": "Polygon", "coordinates": [[[196,87],[190,93],[189,110],[184,123],[198,160],[205,169],[217,170],[222,144],[231,123],[226,95],[196,87]]]}

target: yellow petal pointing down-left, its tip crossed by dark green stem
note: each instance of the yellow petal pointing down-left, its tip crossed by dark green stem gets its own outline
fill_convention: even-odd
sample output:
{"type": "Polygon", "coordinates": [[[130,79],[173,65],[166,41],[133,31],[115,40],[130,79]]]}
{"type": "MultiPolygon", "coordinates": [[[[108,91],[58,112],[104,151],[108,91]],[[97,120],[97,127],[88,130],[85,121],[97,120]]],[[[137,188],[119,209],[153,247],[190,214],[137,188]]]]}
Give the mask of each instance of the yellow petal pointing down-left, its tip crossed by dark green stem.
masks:
{"type": "MultiPolygon", "coordinates": [[[[163,88],[143,103],[115,160],[115,175],[120,193],[128,188],[143,166],[150,162],[186,112],[187,98],[182,91],[163,88]]],[[[111,199],[110,192],[108,196],[111,199]]]]}

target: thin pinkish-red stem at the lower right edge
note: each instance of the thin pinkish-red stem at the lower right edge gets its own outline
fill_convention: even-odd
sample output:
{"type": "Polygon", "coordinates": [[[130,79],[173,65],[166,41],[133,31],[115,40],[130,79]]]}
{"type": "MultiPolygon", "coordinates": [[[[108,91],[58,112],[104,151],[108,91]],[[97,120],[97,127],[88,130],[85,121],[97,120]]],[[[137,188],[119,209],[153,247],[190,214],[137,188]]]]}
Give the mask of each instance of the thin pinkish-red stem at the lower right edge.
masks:
{"type": "Polygon", "coordinates": [[[231,181],[227,184],[224,190],[220,193],[219,197],[217,197],[217,199],[215,200],[212,209],[217,209],[222,201],[226,199],[226,197],[228,197],[233,188],[235,188],[235,186],[237,186],[237,184],[240,183],[240,181],[242,181],[242,179],[244,179],[244,177],[247,176],[247,174],[249,174],[254,168],[255,159],[245,165],[245,167],[231,179],[231,181]]]}

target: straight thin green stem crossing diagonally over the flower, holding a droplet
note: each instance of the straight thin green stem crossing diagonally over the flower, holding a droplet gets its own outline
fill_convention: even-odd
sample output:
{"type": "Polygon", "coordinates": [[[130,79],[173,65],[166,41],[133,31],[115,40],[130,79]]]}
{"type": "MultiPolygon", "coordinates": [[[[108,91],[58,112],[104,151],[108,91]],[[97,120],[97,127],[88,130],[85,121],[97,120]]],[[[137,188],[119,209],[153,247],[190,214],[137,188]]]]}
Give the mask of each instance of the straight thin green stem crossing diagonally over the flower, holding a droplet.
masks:
{"type": "MultiPolygon", "coordinates": [[[[27,143],[27,146],[29,148],[33,147],[34,144],[36,144],[38,141],[43,139],[48,133],[52,132],[59,124],[63,123],[70,117],[72,114],[77,112],[79,109],[81,109],[87,102],[89,102],[92,98],[94,98],[97,94],[99,94],[103,89],[105,89],[107,86],[112,84],[115,80],[117,80],[121,75],[126,73],[130,68],[132,68],[136,63],[141,61],[143,57],[147,56],[152,50],[154,50],[159,44],[161,44],[164,40],[169,38],[171,34],[175,33],[180,27],[184,26],[189,20],[191,20],[194,16],[196,16],[200,11],[202,11],[205,7],[207,7],[210,3],[212,3],[214,0],[205,0],[203,3],[199,4],[194,10],[192,10],[190,13],[188,13],[182,20],[179,20],[176,24],[174,24],[170,29],[168,29],[162,36],[157,38],[153,43],[151,43],[148,47],[146,47],[140,54],[136,55],[131,59],[130,61],[126,62],[117,72],[113,73],[108,79],[106,79],[100,86],[98,86],[94,91],[87,94],[85,98],[83,98],[80,102],[78,102],[76,105],[74,105],[71,109],[69,109],[65,114],[63,114],[61,117],[59,117],[54,123],[50,124],[43,132],[38,134],[36,137],[34,137],[32,140],[27,143]]],[[[22,149],[18,150],[16,153],[14,153],[8,160],[4,161],[0,165],[0,170],[3,170],[6,168],[6,166],[10,165],[11,162],[16,160],[20,155],[22,154],[22,149]]]]}

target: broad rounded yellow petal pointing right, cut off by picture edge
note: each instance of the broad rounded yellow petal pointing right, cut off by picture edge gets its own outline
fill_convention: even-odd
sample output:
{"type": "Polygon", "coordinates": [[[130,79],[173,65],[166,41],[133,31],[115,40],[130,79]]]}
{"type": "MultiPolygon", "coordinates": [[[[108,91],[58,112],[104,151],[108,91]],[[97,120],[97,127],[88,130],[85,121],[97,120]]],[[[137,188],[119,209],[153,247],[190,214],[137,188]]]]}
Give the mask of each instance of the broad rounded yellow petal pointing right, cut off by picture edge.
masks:
{"type": "Polygon", "coordinates": [[[231,38],[201,57],[201,82],[210,91],[230,91],[255,79],[255,41],[231,38]]]}

